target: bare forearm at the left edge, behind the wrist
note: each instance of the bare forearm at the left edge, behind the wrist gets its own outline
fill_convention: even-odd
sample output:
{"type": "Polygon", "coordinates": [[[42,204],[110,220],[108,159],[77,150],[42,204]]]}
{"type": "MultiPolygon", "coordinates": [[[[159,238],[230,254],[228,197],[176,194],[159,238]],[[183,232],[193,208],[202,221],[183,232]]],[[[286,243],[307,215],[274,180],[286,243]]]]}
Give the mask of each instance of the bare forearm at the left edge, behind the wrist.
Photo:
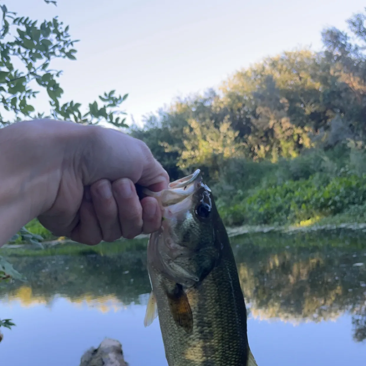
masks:
{"type": "Polygon", "coordinates": [[[56,194],[49,180],[59,179],[54,160],[62,158],[61,151],[40,127],[20,122],[0,130],[0,246],[52,204],[56,194]]]}

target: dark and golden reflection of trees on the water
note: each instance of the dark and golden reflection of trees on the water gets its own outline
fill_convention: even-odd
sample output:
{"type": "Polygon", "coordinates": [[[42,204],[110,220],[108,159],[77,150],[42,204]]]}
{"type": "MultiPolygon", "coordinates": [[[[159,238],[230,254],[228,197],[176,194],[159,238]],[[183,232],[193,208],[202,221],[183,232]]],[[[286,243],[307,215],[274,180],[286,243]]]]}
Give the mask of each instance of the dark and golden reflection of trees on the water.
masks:
{"type": "MultiPolygon", "coordinates": [[[[365,238],[365,234],[344,231],[233,238],[250,317],[319,324],[348,314],[353,340],[364,341],[365,238]]],[[[3,305],[44,304],[52,309],[62,297],[74,306],[87,305],[105,313],[130,304],[145,305],[150,291],[146,251],[141,248],[113,255],[89,251],[83,255],[8,260],[27,277],[27,283],[14,282],[0,288],[3,305]]]]}

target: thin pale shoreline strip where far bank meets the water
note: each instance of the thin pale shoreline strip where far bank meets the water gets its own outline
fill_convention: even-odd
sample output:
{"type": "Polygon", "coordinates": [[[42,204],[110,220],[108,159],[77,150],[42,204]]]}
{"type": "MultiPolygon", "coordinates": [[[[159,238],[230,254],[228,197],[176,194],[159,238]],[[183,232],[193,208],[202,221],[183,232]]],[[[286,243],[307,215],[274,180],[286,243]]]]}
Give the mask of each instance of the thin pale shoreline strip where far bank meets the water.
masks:
{"type": "MultiPolygon", "coordinates": [[[[361,230],[366,232],[366,223],[341,223],[341,224],[326,224],[326,225],[240,225],[235,227],[227,227],[227,233],[229,238],[233,238],[235,236],[244,235],[244,234],[255,234],[255,233],[267,233],[272,231],[282,232],[285,234],[296,234],[299,232],[314,232],[319,230],[336,230],[336,229],[350,229],[350,230],[361,230]]],[[[130,240],[142,240],[148,239],[149,234],[140,234],[135,236],[135,238],[130,240]]],[[[127,239],[122,239],[127,240],[127,239]]],[[[105,242],[101,242],[105,243],[105,242]]],[[[80,244],[71,239],[66,238],[58,238],[54,240],[45,240],[41,242],[42,245],[51,248],[59,244],[80,244]]],[[[33,248],[32,244],[4,244],[1,249],[16,249],[16,248],[33,248]]]]}

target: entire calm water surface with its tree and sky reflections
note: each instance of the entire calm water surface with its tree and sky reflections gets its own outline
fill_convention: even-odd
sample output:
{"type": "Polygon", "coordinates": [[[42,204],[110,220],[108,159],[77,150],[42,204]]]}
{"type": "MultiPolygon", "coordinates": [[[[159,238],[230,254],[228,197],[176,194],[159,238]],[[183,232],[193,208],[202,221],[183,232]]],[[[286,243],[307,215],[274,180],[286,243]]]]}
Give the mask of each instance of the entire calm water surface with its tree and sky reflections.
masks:
{"type": "MultiPolygon", "coordinates": [[[[259,366],[364,364],[365,243],[350,231],[232,239],[259,366]]],[[[28,282],[0,289],[0,318],[16,323],[3,330],[1,365],[78,366],[104,337],[122,343],[130,366],[167,365],[158,321],[143,326],[146,249],[105,248],[8,257],[28,282]]]]}

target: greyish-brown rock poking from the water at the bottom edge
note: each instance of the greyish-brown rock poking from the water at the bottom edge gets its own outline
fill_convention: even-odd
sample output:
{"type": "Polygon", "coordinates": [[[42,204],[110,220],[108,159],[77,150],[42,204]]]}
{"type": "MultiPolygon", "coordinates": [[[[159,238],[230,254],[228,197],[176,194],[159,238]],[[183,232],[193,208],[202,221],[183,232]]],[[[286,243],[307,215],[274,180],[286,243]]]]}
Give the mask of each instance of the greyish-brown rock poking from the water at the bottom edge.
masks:
{"type": "Polygon", "coordinates": [[[124,361],[122,344],[115,339],[105,338],[98,348],[87,350],[80,362],[80,366],[128,366],[124,361]]]}

